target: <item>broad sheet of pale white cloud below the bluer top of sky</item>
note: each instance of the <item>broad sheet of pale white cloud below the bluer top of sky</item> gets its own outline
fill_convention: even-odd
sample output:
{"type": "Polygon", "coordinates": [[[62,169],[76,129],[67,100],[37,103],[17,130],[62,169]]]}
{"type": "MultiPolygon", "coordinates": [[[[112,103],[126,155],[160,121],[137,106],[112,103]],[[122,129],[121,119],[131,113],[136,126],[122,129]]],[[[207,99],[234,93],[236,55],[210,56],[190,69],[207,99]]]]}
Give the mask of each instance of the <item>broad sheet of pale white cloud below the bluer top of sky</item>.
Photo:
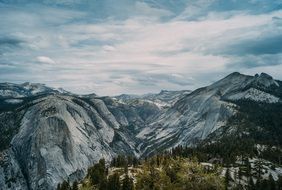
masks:
{"type": "MultiPolygon", "coordinates": [[[[201,3],[193,6],[201,9],[201,3]]],[[[43,82],[79,93],[194,89],[219,79],[218,74],[251,70],[242,64],[246,57],[222,54],[229,44],[282,32],[281,26],[273,25],[274,17],[282,17],[281,10],[257,15],[212,11],[189,21],[189,8],[179,17],[162,20],[172,13],[144,2],[133,7],[136,12],[127,10],[132,15],[126,19],[106,17],[98,21],[91,12],[46,6],[33,11],[29,6],[0,10],[0,36],[12,34],[24,41],[23,49],[5,53],[0,61],[12,61],[23,70],[17,73],[17,80],[43,82]]],[[[266,61],[259,56],[252,60],[260,66],[266,61]]],[[[280,67],[267,69],[277,76],[271,68],[280,67]]],[[[14,80],[15,73],[1,75],[0,80],[14,80]]]]}

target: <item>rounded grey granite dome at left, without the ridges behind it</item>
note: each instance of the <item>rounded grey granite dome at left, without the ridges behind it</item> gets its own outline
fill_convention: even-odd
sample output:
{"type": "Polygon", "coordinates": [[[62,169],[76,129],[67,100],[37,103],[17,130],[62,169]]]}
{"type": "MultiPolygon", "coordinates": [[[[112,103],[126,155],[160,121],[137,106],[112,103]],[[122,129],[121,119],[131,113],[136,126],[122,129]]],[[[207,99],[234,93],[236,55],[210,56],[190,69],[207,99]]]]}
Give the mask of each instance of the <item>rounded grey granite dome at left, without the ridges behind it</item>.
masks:
{"type": "Polygon", "coordinates": [[[96,155],[110,159],[113,136],[113,128],[95,110],[51,95],[26,111],[11,144],[29,187],[44,189],[65,176],[82,177],[96,155]]]}

